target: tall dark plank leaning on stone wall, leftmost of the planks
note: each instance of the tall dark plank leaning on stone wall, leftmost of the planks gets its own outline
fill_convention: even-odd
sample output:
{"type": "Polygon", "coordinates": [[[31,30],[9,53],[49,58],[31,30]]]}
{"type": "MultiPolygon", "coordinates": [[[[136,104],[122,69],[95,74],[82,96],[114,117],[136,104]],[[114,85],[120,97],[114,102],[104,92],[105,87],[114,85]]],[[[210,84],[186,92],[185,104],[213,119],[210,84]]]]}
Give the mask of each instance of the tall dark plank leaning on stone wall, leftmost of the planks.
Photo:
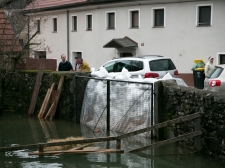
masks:
{"type": "Polygon", "coordinates": [[[41,65],[39,66],[39,69],[38,69],[38,74],[36,76],[36,82],[34,85],[34,90],[33,90],[32,98],[31,98],[31,102],[30,102],[30,106],[29,106],[29,110],[28,110],[29,116],[31,116],[31,114],[34,113],[34,109],[35,109],[37,97],[38,97],[38,92],[39,92],[39,88],[41,85],[44,67],[45,67],[45,65],[41,63],[41,65]]]}

